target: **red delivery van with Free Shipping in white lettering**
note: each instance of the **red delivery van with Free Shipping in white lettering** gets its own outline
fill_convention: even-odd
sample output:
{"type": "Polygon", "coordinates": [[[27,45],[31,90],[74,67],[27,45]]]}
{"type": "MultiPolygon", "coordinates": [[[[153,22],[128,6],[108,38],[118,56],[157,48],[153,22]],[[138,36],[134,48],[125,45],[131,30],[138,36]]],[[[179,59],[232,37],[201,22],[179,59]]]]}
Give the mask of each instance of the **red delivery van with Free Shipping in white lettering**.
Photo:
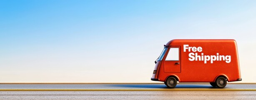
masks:
{"type": "Polygon", "coordinates": [[[151,80],[173,88],[178,82],[210,82],[223,88],[241,81],[236,41],[231,39],[177,39],[167,42],[155,61],[151,80]]]}

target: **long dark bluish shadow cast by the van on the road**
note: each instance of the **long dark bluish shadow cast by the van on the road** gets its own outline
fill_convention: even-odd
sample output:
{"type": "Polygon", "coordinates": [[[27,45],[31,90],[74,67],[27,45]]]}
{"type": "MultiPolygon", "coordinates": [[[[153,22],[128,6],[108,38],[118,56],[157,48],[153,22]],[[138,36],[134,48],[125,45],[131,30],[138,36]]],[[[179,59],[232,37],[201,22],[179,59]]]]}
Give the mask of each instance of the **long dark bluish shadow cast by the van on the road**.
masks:
{"type": "MultiPolygon", "coordinates": [[[[124,84],[124,85],[110,85],[111,87],[128,87],[128,88],[155,88],[155,89],[161,89],[161,88],[167,88],[166,85],[157,84],[157,85],[130,85],[130,84],[124,84]]],[[[206,85],[176,85],[175,88],[214,88],[212,86],[206,86],[206,85]]]]}

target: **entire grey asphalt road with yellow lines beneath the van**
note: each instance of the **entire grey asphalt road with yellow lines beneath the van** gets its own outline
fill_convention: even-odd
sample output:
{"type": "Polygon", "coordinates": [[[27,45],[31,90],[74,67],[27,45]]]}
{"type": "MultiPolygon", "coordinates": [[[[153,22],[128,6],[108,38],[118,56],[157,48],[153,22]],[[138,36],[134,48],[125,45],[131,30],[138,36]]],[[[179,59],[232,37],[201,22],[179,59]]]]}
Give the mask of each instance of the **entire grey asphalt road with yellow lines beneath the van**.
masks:
{"type": "Polygon", "coordinates": [[[256,84],[228,84],[223,89],[209,84],[178,84],[174,89],[164,84],[0,84],[0,100],[131,99],[256,100],[256,84]]]}

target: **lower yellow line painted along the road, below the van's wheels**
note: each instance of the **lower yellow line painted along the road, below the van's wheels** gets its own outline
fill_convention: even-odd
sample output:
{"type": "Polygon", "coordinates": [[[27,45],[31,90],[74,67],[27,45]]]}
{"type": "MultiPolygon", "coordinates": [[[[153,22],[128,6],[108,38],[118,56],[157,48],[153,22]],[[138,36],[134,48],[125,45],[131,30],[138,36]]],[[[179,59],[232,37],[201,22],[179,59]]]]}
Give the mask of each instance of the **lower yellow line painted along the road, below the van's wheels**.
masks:
{"type": "Polygon", "coordinates": [[[256,91],[256,89],[0,89],[0,91],[256,91]]]}

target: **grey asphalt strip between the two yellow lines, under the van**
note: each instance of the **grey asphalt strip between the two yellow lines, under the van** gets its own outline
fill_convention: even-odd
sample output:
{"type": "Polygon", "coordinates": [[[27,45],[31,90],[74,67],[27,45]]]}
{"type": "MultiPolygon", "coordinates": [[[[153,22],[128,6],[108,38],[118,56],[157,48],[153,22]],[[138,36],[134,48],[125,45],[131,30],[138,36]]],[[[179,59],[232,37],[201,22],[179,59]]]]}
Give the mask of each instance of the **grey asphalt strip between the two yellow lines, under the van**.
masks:
{"type": "Polygon", "coordinates": [[[228,84],[214,88],[210,84],[178,84],[169,89],[164,84],[0,84],[0,90],[256,90],[256,84],[228,84]]]}

